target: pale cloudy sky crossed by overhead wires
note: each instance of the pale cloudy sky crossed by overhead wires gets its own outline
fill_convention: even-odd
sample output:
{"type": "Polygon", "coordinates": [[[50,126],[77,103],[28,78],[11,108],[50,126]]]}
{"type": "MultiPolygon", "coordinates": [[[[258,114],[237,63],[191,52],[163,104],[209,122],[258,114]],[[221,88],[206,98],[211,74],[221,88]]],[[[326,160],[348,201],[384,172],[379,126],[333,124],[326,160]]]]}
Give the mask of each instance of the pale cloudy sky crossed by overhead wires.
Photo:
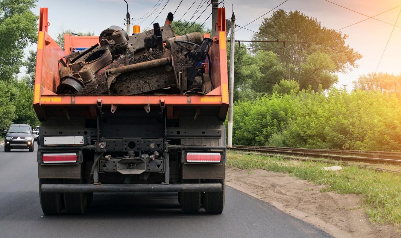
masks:
{"type": "MultiPolygon", "coordinates": [[[[391,8],[401,5],[401,0],[330,0],[336,4],[350,8],[357,12],[363,13],[367,16],[352,12],[350,10],[336,6],[325,0],[288,0],[277,9],[284,9],[286,11],[298,10],[304,14],[316,18],[321,22],[322,26],[328,28],[340,29],[344,26],[356,23],[361,20],[374,16],[381,12],[387,11],[391,8]]],[[[147,28],[152,22],[164,23],[168,12],[174,12],[181,0],[127,0],[129,4],[129,12],[134,19],[134,24],[139,24],[141,30],[147,28]],[[161,1],[161,2],[160,2],[161,1]],[[167,3],[162,10],[163,6],[167,3]],[[156,5],[156,8],[152,8],[156,5]],[[148,18],[142,18],[150,10],[156,12],[148,18]],[[162,10],[162,11],[161,11],[162,10]],[[160,15],[156,18],[156,16],[160,15]],[[141,18],[141,19],[138,19],[141,18]]],[[[192,20],[197,22],[204,22],[211,13],[211,6],[207,7],[209,0],[182,0],[180,6],[176,10],[174,18],[179,20],[190,20],[196,8],[200,6],[200,11],[195,14],[192,20]],[[206,3],[204,3],[206,2],[206,3]],[[191,7],[191,5],[193,6],[191,7]],[[190,8],[191,7],[191,8],[190,8]],[[189,9],[189,10],[188,10],[189,9]],[[203,12],[205,10],[205,12],[203,12]],[[203,14],[201,14],[203,12],[203,14]],[[199,16],[199,18],[198,18],[199,16]]],[[[245,26],[249,22],[262,16],[272,8],[284,2],[284,0],[224,0],[226,7],[226,18],[231,16],[233,6],[235,17],[237,18],[236,24],[245,26]]],[[[220,6],[222,6],[221,4],[220,6]]],[[[39,0],[37,7],[33,12],[39,14],[40,7],[49,8],[49,34],[53,37],[57,33],[64,30],[73,30],[81,32],[94,32],[99,35],[104,29],[111,25],[124,26],[124,18],[126,17],[126,3],[124,0],[39,0]],[[68,4],[67,4],[68,3],[68,4]]],[[[338,74],[339,81],[335,85],[342,88],[342,85],[348,85],[347,89],[352,89],[352,81],[358,79],[359,75],[375,72],[377,67],[378,72],[387,72],[393,74],[401,73],[401,47],[399,42],[401,40],[401,17],[397,21],[393,34],[389,40],[389,36],[393,29],[398,14],[401,11],[401,6],[381,14],[375,18],[388,22],[386,24],[379,20],[369,19],[364,22],[355,24],[341,30],[343,34],[348,34],[346,40],[351,48],[358,51],[363,55],[357,64],[359,67],[347,73],[338,74]],[[387,48],[383,54],[385,46],[387,48]],[[383,54],[383,59],[379,60],[383,54]]],[[[273,11],[272,11],[273,12],[273,11]]],[[[265,14],[263,17],[271,16],[272,12],[265,14]]],[[[263,18],[259,18],[255,22],[249,24],[246,28],[257,31],[263,18]]],[[[209,18],[205,25],[211,28],[211,18],[209,18]]],[[[254,34],[245,29],[239,29],[235,32],[237,40],[249,40],[254,34]]],[[[131,29],[132,31],[132,29],[131,29]]],[[[30,46],[26,49],[35,49],[36,46],[30,46]]],[[[23,73],[21,73],[23,74],[23,73]]]]}

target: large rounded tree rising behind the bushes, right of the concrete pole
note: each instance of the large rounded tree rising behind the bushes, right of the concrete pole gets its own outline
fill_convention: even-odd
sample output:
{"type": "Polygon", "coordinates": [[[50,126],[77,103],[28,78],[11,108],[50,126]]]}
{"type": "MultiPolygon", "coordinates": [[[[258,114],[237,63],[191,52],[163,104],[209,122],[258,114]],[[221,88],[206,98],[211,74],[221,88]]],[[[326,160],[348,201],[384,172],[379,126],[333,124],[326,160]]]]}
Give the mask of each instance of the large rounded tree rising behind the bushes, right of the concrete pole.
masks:
{"type": "MultiPolygon", "coordinates": [[[[336,73],[344,73],[358,67],[356,61],[362,56],[345,44],[347,34],[336,32],[320,24],[316,18],[294,11],[277,10],[264,18],[259,26],[261,34],[253,40],[308,41],[308,43],[252,42],[255,49],[271,50],[283,63],[284,79],[295,79],[302,89],[330,88],[337,82],[336,73]]],[[[256,53],[256,50],[253,50],[256,53]]],[[[281,79],[276,78],[277,82],[281,79]]],[[[269,81],[266,81],[269,83],[269,81]]],[[[274,82],[273,84],[275,84],[274,82]]]]}

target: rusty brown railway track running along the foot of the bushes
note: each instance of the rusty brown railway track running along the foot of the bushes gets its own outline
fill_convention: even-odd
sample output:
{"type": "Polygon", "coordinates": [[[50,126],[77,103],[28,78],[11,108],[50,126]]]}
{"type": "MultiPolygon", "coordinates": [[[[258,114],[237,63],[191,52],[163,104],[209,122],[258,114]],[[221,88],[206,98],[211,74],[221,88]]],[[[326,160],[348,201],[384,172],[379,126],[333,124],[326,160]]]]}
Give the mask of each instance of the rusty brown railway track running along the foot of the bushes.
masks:
{"type": "Polygon", "coordinates": [[[342,165],[357,165],[361,168],[375,169],[401,174],[401,153],[386,151],[356,151],[356,150],[330,150],[330,149],[305,149],[288,147],[266,147],[234,145],[228,148],[231,151],[252,155],[268,155],[282,157],[283,159],[297,159],[303,161],[320,161],[326,163],[340,163],[342,165]],[[316,159],[312,159],[316,158],[316,159]],[[324,160],[332,159],[332,160],[324,160]],[[380,166],[380,167],[379,167],[380,166]],[[385,167],[395,167],[388,169],[385,167]]]}

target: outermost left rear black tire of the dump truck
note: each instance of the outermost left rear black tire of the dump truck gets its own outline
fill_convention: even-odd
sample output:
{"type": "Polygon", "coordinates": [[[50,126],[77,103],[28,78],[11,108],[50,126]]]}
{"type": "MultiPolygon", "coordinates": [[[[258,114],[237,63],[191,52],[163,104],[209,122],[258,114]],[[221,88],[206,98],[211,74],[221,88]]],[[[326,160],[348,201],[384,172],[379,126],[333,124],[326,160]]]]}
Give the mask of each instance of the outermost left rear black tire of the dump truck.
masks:
{"type": "Polygon", "coordinates": [[[60,184],[59,179],[39,179],[39,200],[43,214],[58,215],[63,209],[63,196],[61,193],[43,193],[41,192],[42,184],[60,184]]]}

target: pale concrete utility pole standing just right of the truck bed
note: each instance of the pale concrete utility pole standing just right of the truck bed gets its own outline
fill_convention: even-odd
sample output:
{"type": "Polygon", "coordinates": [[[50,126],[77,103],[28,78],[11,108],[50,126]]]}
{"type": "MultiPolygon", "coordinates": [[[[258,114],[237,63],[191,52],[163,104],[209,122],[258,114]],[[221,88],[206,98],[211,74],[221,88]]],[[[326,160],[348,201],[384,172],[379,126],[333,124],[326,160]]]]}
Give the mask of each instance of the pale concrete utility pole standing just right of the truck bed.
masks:
{"type": "MultiPolygon", "coordinates": [[[[232,5],[231,5],[232,7],[232,5]]],[[[233,103],[234,103],[234,55],[235,54],[235,15],[231,16],[230,34],[230,79],[229,79],[229,107],[228,107],[228,147],[233,147],[233,103]]]]}

